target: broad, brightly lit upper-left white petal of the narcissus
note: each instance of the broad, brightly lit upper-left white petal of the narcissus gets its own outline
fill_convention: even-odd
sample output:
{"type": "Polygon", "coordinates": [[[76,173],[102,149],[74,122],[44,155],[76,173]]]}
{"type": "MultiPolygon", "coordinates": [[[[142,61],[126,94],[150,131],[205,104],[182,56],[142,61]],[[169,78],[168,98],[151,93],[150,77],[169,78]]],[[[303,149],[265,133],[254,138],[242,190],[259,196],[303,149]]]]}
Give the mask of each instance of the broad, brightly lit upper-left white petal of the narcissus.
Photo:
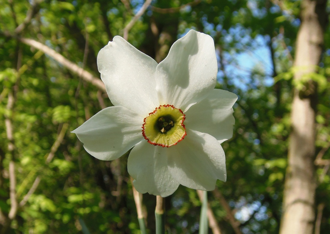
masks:
{"type": "Polygon", "coordinates": [[[116,36],[97,55],[111,102],[148,116],[159,106],[154,73],[157,62],[123,38],[116,36]]]}

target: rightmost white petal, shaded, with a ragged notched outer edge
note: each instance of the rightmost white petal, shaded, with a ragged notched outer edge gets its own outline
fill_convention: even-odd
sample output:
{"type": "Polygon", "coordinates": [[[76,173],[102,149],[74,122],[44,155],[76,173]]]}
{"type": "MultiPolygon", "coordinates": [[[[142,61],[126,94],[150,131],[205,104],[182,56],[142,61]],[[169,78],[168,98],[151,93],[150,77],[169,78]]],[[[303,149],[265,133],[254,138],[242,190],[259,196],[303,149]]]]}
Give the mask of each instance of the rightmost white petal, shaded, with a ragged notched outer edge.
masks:
{"type": "Polygon", "coordinates": [[[185,127],[212,135],[220,143],[233,137],[233,105],[237,95],[225,90],[212,90],[209,96],[191,106],[184,120],[185,127]]]}

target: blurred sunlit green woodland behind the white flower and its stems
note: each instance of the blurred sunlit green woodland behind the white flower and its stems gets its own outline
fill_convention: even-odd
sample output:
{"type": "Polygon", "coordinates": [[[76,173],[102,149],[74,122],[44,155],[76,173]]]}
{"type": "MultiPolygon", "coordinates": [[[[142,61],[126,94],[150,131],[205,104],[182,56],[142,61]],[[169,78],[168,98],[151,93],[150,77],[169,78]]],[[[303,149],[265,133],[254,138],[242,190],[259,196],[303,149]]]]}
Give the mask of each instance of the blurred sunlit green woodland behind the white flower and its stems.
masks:
{"type": "MultiPolygon", "coordinates": [[[[329,233],[329,12],[326,0],[0,0],[0,233],[140,233],[127,155],[97,160],[70,131],[112,105],[96,64],[108,41],[160,62],[189,29],[213,37],[216,88],[239,97],[209,233],[329,233]]],[[[149,233],[154,206],[144,194],[149,233]]],[[[198,233],[200,206],[180,186],[167,233],[198,233]]]]}

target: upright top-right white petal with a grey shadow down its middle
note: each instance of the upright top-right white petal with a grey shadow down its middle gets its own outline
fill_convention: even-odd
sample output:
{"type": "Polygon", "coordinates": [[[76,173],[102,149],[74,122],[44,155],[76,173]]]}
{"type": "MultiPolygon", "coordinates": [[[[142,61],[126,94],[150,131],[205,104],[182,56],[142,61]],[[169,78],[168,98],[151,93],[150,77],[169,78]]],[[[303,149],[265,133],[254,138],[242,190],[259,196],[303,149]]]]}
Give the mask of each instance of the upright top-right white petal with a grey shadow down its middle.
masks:
{"type": "Polygon", "coordinates": [[[156,90],[161,105],[183,112],[202,100],[216,83],[217,61],[213,39],[190,30],[172,45],[156,68],[156,90]]]}

